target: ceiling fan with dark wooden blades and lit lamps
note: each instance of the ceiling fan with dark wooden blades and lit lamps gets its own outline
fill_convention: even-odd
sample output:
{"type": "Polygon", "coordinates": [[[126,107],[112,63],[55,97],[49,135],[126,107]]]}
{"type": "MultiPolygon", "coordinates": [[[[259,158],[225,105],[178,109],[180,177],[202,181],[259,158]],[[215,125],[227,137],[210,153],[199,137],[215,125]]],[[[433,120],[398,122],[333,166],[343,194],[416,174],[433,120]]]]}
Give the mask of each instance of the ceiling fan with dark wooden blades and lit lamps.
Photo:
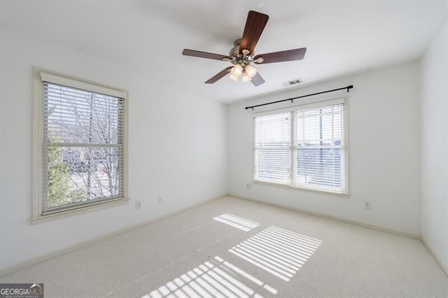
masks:
{"type": "Polygon", "coordinates": [[[261,85],[265,83],[265,80],[260,76],[257,69],[253,67],[253,63],[267,64],[302,60],[305,52],[307,52],[307,48],[298,48],[255,55],[255,45],[257,45],[262,31],[265,29],[267,20],[269,20],[269,15],[253,10],[249,11],[243,36],[235,41],[234,47],[230,50],[228,56],[188,49],[183,49],[182,55],[221,60],[234,64],[234,66],[228,66],[223,71],[209,78],[205,82],[206,84],[213,84],[230,73],[230,79],[235,80],[235,82],[241,78],[243,82],[251,81],[255,86],[261,85]]]}

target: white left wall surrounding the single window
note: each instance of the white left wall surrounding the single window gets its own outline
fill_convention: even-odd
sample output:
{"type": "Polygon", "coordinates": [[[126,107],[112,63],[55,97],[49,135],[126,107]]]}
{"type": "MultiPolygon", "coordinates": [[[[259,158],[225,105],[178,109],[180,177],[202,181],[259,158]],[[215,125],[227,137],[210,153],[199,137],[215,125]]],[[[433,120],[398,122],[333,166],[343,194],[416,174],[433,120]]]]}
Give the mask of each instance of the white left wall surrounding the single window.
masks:
{"type": "Polygon", "coordinates": [[[3,29],[0,41],[0,269],[227,193],[226,106],[3,29]],[[30,225],[31,66],[129,90],[129,204],[30,225]]]}

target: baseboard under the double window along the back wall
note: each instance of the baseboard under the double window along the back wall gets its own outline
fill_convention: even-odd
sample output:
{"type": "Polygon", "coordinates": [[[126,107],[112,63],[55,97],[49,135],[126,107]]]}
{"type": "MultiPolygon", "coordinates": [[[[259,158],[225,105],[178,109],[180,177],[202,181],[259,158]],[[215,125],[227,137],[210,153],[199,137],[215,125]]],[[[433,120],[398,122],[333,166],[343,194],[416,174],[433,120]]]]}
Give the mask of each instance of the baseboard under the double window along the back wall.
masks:
{"type": "Polygon", "coordinates": [[[241,196],[239,196],[237,194],[229,194],[229,197],[234,197],[235,199],[243,199],[243,200],[246,200],[246,201],[253,201],[255,203],[260,203],[260,204],[265,204],[265,205],[268,205],[268,206],[274,206],[274,207],[277,207],[277,208],[283,208],[283,209],[290,210],[290,211],[300,212],[300,213],[304,213],[304,214],[307,214],[307,215],[316,216],[318,218],[325,218],[327,220],[335,220],[337,222],[344,222],[344,223],[349,224],[349,225],[356,225],[358,227],[365,227],[366,229],[374,229],[374,230],[377,230],[377,231],[380,231],[380,232],[386,232],[386,233],[389,233],[389,234],[394,234],[394,235],[404,236],[404,237],[411,238],[411,239],[421,240],[421,235],[401,232],[401,231],[397,231],[395,229],[388,229],[386,227],[378,227],[376,225],[368,225],[368,224],[365,224],[363,222],[357,222],[357,221],[354,221],[354,220],[346,220],[344,218],[338,218],[338,217],[332,216],[332,215],[325,215],[325,214],[321,214],[321,213],[315,213],[315,212],[311,212],[311,211],[302,210],[300,208],[293,208],[293,207],[283,206],[283,205],[280,205],[280,204],[270,203],[270,202],[267,202],[267,201],[260,201],[260,200],[251,199],[251,198],[248,198],[248,197],[241,197],[241,196]]]}

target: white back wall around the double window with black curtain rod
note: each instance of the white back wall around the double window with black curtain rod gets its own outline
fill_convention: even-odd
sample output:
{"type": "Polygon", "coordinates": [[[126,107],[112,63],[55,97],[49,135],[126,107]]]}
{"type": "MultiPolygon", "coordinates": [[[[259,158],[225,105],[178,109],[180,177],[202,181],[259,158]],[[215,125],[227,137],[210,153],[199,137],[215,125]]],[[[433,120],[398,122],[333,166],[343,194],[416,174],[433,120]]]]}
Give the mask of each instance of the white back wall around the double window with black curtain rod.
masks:
{"type": "MultiPolygon", "coordinates": [[[[418,64],[410,63],[233,104],[228,121],[230,194],[420,235],[418,79],[418,64]],[[348,101],[351,195],[257,183],[247,190],[246,183],[252,180],[253,113],[244,107],[346,85],[354,86],[348,101]],[[363,201],[371,201],[372,209],[365,210],[363,201]]],[[[345,94],[343,91],[325,97],[345,94]]]]}

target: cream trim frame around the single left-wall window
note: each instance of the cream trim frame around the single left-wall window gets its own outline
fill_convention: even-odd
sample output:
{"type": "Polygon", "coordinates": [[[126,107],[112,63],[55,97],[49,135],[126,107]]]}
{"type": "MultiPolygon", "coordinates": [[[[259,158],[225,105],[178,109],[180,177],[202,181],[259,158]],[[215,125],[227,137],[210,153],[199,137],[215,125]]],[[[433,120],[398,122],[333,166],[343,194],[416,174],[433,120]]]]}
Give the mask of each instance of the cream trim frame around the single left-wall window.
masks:
{"type": "Polygon", "coordinates": [[[109,208],[111,206],[117,206],[121,204],[127,204],[129,197],[127,194],[127,123],[128,123],[128,92],[127,90],[118,89],[108,85],[95,83],[92,81],[84,80],[81,78],[75,78],[73,76],[67,76],[62,73],[56,73],[47,69],[41,69],[33,66],[32,68],[32,80],[33,80],[33,139],[32,139],[32,211],[31,211],[31,224],[38,222],[46,222],[49,220],[56,220],[57,218],[65,218],[67,216],[86,213],[102,208],[109,208]],[[45,157],[43,156],[43,137],[44,137],[44,116],[43,116],[43,78],[46,81],[55,83],[58,85],[66,85],[69,87],[76,87],[81,90],[88,90],[91,92],[109,94],[114,97],[121,97],[124,99],[124,113],[123,113],[123,197],[111,197],[111,199],[101,199],[99,201],[92,200],[90,204],[80,204],[78,206],[72,205],[66,208],[59,208],[58,210],[45,212],[43,208],[43,186],[44,173],[45,173],[45,157]]]}

